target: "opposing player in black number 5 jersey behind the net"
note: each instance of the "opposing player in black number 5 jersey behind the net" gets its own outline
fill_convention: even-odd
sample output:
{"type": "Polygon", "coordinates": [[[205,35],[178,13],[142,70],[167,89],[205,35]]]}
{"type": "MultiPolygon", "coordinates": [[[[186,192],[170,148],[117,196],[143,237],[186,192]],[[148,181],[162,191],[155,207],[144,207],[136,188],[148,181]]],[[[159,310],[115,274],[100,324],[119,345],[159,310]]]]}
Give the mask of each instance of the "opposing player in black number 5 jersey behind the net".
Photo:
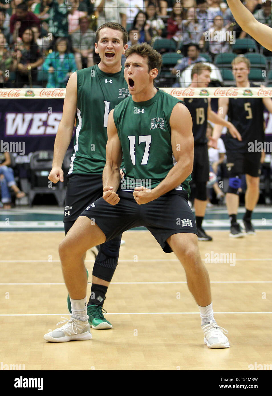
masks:
{"type": "MultiPolygon", "coordinates": [[[[250,62],[245,57],[236,57],[232,61],[232,73],[237,87],[250,88],[248,75],[250,62]]],[[[227,132],[225,147],[227,154],[227,168],[229,172],[229,187],[226,194],[226,205],[230,216],[230,236],[234,238],[244,236],[237,222],[239,206],[238,189],[241,187],[241,175],[245,174],[247,190],[245,192],[245,215],[243,225],[247,234],[255,234],[251,224],[252,211],[259,199],[259,170],[261,163],[261,152],[251,152],[252,144],[264,142],[264,106],[271,113],[272,100],[270,98],[227,98],[218,99],[218,107],[222,109],[220,116],[225,118],[228,114],[229,120],[238,128],[242,140],[233,139],[227,132]]],[[[214,128],[213,137],[218,138],[221,129],[214,128]]],[[[257,147],[257,145],[255,145],[257,147]]]]}

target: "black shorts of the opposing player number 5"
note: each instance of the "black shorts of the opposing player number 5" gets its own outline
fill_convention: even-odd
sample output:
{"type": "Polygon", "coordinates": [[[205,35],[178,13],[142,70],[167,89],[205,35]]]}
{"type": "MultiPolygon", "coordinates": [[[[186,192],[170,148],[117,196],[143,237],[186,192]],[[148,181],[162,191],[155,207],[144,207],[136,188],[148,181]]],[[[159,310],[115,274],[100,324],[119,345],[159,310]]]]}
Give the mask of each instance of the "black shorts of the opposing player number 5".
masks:
{"type": "Polygon", "coordinates": [[[250,175],[259,177],[261,174],[261,152],[227,151],[227,169],[229,177],[250,175]]]}

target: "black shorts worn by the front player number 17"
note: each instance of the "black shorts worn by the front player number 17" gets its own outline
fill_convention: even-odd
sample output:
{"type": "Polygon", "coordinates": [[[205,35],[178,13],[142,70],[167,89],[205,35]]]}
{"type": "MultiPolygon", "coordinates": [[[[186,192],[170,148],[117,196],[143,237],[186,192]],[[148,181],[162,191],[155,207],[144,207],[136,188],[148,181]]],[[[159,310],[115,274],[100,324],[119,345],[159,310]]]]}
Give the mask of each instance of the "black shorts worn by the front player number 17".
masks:
{"type": "Polygon", "coordinates": [[[188,193],[171,190],[154,201],[138,205],[131,191],[119,188],[120,201],[113,206],[103,198],[90,202],[81,216],[92,219],[103,231],[106,240],[134,227],[146,227],[166,253],[172,249],[167,238],[180,232],[197,234],[195,218],[188,205],[188,193]]]}

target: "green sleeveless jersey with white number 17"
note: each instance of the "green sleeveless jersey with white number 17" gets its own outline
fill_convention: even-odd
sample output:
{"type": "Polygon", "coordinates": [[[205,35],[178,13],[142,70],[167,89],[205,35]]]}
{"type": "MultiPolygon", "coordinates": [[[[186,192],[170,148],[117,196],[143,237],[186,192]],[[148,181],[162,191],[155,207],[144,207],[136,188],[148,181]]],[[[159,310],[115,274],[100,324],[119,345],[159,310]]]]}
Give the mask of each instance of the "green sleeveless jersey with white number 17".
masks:
{"type": "MultiPolygon", "coordinates": [[[[134,190],[140,185],[155,188],[176,164],[170,116],[178,102],[181,101],[158,90],[148,101],[134,102],[130,96],[115,107],[113,118],[126,168],[122,189],[134,190]]],[[[189,196],[191,180],[188,176],[176,189],[186,190],[189,196]]]]}

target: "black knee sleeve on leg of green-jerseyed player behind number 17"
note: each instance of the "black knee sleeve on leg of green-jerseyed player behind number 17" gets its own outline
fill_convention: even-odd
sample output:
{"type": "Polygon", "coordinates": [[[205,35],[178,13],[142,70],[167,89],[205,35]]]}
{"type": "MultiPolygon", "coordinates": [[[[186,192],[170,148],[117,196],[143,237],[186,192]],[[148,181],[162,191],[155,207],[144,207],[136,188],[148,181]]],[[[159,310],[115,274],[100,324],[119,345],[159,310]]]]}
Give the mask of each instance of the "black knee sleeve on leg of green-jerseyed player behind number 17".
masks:
{"type": "Polygon", "coordinates": [[[93,276],[103,279],[106,282],[111,282],[118,264],[120,243],[121,235],[100,245],[92,270],[93,276]]]}

